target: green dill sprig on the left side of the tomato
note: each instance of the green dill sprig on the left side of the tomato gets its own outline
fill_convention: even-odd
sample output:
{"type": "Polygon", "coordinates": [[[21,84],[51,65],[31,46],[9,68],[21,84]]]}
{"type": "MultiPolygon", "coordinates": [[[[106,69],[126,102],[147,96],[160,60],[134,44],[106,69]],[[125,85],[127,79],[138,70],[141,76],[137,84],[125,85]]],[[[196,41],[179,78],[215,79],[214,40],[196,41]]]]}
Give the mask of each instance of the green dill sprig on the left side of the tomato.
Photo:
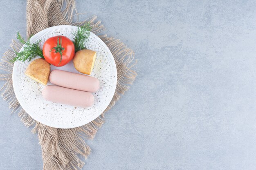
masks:
{"type": "Polygon", "coordinates": [[[20,33],[17,33],[17,39],[19,40],[20,43],[25,44],[23,51],[18,52],[15,51],[16,57],[14,57],[11,62],[15,62],[17,60],[25,62],[26,60],[32,60],[33,58],[39,56],[43,57],[43,51],[39,47],[39,43],[41,40],[37,41],[36,43],[31,44],[30,43],[30,38],[25,41],[24,38],[20,35],[20,33]]]}

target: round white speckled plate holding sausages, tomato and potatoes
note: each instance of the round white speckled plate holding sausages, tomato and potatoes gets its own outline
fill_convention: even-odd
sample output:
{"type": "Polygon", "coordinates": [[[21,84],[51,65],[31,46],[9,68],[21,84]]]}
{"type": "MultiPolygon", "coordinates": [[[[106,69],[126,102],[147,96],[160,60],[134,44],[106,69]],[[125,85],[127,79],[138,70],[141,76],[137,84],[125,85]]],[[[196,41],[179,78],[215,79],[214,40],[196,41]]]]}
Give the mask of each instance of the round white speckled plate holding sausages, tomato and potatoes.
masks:
{"type": "MultiPolygon", "coordinates": [[[[72,32],[77,30],[76,26],[53,26],[36,33],[30,42],[42,40],[40,47],[50,37],[64,35],[73,40],[72,32]]],[[[117,68],[115,60],[106,44],[96,35],[91,33],[86,43],[87,49],[97,51],[97,57],[91,76],[99,79],[99,91],[93,93],[94,105],[90,108],[80,108],[49,102],[42,97],[42,84],[35,82],[25,76],[25,70],[30,62],[17,61],[13,66],[13,89],[22,108],[36,121],[54,128],[74,128],[88,124],[96,119],[107,108],[116,89],[117,68]]],[[[23,50],[20,49],[20,51],[23,50]]],[[[60,69],[79,73],[71,61],[65,66],[55,67],[51,65],[51,71],[60,69]]],[[[51,83],[48,81],[47,85],[51,83]]]]}

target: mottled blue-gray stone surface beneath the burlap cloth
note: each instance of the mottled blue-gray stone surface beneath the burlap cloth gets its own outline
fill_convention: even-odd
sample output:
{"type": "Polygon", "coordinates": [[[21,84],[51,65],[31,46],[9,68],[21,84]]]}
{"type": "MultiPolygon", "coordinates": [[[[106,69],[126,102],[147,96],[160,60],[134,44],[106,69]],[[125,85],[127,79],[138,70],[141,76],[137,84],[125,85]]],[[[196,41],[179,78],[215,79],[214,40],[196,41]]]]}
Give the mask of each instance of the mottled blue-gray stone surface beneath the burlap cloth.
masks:
{"type": "MultiPolygon", "coordinates": [[[[255,1],[76,4],[138,59],[133,86],[88,141],[83,170],[256,169],[255,1]]],[[[1,55],[25,35],[25,12],[24,0],[1,0],[1,55]]],[[[2,99],[0,113],[0,170],[42,169],[37,135],[2,99]]]]}

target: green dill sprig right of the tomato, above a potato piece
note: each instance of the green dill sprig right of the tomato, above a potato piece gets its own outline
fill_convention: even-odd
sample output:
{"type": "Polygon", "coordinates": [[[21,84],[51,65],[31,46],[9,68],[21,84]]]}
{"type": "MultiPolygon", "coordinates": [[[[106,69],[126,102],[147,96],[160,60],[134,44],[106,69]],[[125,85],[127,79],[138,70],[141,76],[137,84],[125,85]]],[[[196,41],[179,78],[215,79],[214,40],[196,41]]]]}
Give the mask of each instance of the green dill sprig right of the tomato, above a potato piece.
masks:
{"type": "Polygon", "coordinates": [[[78,30],[75,33],[72,33],[75,36],[73,41],[75,52],[86,49],[85,42],[87,42],[90,37],[91,29],[92,27],[90,26],[90,23],[87,22],[83,26],[78,27],[78,30]]]}

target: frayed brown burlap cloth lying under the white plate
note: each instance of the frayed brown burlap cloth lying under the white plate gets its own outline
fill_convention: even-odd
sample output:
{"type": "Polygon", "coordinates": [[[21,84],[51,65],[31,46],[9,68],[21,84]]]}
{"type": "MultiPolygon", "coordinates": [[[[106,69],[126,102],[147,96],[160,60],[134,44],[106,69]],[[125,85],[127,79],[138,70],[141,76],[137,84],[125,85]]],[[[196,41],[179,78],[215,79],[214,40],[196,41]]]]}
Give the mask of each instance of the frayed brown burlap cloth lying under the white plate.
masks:
{"type": "MultiPolygon", "coordinates": [[[[27,37],[38,31],[56,25],[82,25],[91,22],[92,32],[99,35],[103,31],[100,21],[91,17],[84,22],[78,22],[74,0],[27,0],[27,37]],[[76,18],[76,21],[74,21],[76,18]]],[[[39,144],[42,147],[43,170],[78,170],[84,165],[82,158],[90,154],[90,147],[85,144],[85,139],[93,139],[97,130],[104,123],[103,115],[110,110],[115,102],[128,90],[136,77],[131,68],[134,53],[126,45],[115,38],[106,35],[99,36],[106,43],[117,65],[117,88],[108,108],[94,121],[72,129],[58,129],[40,124],[31,118],[21,107],[16,99],[12,86],[13,64],[9,62],[19,51],[21,44],[13,41],[12,49],[4,53],[0,63],[0,79],[6,81],[1,88],[2,97],[9,103],[9,108],[17,112],[25,126],[34,126],[32,132],[38,133],[39,144]]]]}

